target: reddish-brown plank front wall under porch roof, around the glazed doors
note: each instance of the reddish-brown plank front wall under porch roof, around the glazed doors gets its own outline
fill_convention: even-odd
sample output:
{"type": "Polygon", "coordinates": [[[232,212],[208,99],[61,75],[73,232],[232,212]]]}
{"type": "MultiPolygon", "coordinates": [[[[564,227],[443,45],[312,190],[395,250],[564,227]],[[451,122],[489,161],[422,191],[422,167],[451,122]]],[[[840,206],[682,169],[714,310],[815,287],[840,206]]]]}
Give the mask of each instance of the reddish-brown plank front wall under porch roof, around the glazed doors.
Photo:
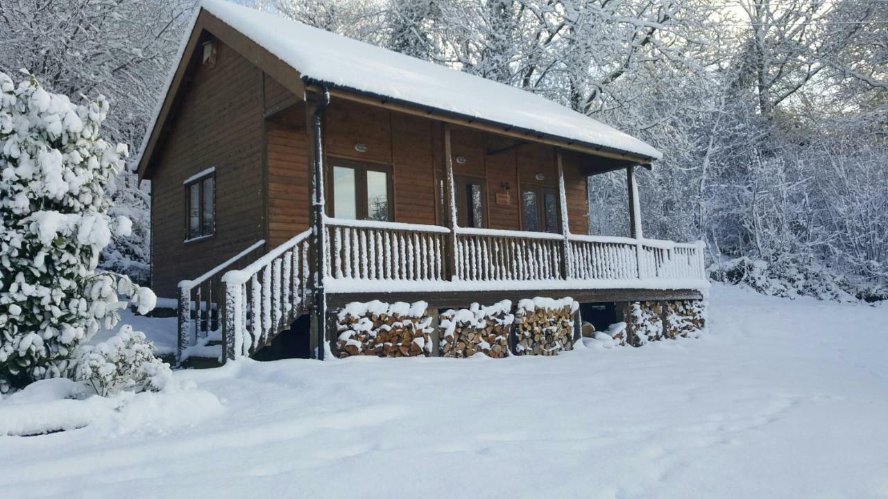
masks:
{"type": "MultiPolygon", "coordinates": [[[[324,115],[324,150],[329,157],[392,165],[394,213],[398,222],[443,224],[437,213],[438,181],[445,177],[443,125],[420,116],[392,112],[348,100],[330,103],[324,115]],[[356,144],[367,151],[359,153],[356,144]]],[[[555,150],[543,144],[522,144],[516,140],[454,126],[451,131],[457,176],[484,178],[488,189],[488,227],[519,230],[520,187],[523,185],[558,188],[555,150]],[[498,149],[504,149],[496,152],[498,149]],[[488,154],[488,152],[496,152],[488,154]],[[536,178],[538,174],[543,179],[536,178]],[[496,194],[509,186],[508,202],[496,194]]],[[[564,162],[570,230],[588,232],[586,178],[580,171],[578,154],[567,153],[564,162]]]]}

